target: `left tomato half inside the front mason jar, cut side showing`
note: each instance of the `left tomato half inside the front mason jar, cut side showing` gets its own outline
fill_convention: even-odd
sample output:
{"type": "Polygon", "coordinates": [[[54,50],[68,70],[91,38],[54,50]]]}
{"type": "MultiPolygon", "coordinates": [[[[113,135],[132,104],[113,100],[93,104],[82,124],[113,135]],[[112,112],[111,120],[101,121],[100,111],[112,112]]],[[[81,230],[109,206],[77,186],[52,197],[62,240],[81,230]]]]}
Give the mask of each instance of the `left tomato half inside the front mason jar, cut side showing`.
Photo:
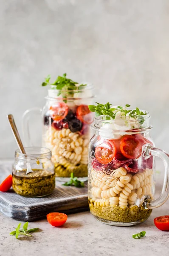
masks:
{"type": "Polygon", "coordinates": [[[106,140],[95,149],[95,156],[99,163],[110,163],[117,153],[117,148],[112,140],[106,140]]]}

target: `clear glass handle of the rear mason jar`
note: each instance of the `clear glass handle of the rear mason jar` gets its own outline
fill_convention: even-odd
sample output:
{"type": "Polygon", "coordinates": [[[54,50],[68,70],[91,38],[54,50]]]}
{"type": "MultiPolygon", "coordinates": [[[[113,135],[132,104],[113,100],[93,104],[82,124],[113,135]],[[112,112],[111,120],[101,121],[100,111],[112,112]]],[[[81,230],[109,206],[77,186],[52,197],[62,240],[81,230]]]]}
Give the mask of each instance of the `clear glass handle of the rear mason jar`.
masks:
{"type": "Polygon", "coordinates": [[[23,131],[23,140],[24,140],[24,144],[25,144],[26,147],[34,146],[34,143],[31,140],[30,129],[29,129],[29,121],[30,121],[33,114],[36,114],[36,115],[40,114],[41,115],[42,114],[42,109],[41,108],[31,108],[31,109],[26,110],[23,113],[22,131],[23,131]]]}

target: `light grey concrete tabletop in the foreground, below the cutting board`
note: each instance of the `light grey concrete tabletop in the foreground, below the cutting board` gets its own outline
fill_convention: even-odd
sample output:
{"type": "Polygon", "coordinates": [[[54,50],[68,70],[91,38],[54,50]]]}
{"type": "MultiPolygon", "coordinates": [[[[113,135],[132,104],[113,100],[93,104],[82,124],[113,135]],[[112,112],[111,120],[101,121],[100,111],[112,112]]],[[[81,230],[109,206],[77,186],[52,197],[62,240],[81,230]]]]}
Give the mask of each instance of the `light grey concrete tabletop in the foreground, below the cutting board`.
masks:
{"type": "Polygon", "coordinates": [[[42,231],[33,238],[15,239],[9,233],[19,224],[0,213],[0,256],[168,256],[169,232],[158,230],[153,219],[169,213],[169,201],[155,209],[143,224],[113,227],[100,223],[90,212],[68,215],[68,221],[54,228],[46,220],[31,222],[42,231]],[[132,234],[145,230],[143,239],[132,234]]]}

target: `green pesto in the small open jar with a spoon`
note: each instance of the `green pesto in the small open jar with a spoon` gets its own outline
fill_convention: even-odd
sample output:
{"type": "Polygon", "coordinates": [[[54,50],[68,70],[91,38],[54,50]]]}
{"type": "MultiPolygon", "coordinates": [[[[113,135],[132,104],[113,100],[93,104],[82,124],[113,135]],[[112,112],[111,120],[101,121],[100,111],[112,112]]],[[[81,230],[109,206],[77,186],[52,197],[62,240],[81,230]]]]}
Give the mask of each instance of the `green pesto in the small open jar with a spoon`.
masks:
{"type": "Polygon", "coordinates": [[[26,175],[26,170],[16,171],[12,178],[14,191],[25,197],[49,195],[55,188],[55,174],[45,169],[33,169],[26,175]]]}

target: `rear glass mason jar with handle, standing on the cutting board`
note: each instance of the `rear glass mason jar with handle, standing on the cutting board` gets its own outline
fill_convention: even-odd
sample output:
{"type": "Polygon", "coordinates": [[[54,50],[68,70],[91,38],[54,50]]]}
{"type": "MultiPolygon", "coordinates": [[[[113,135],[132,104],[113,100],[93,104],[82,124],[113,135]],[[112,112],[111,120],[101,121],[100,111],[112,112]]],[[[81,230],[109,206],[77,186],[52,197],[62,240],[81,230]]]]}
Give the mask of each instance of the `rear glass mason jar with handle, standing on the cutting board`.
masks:
{"type": "MultiPolygon", "coordinates": [[[[42,146],[51,149],[57,177],[87,177],[88,143],[93,113],[88,105],[93,102],[93,86],[87,84],[79,90],[48,90],[42,114],[42,146]]],[[[25,143],[30,145],[29,119],[32,109],[23,115],[25,143]]],[[[65,180],[60,178],[60,180],[65,180]]],[[[85,178],[86,180],[86,178],[85,178]]]]}

